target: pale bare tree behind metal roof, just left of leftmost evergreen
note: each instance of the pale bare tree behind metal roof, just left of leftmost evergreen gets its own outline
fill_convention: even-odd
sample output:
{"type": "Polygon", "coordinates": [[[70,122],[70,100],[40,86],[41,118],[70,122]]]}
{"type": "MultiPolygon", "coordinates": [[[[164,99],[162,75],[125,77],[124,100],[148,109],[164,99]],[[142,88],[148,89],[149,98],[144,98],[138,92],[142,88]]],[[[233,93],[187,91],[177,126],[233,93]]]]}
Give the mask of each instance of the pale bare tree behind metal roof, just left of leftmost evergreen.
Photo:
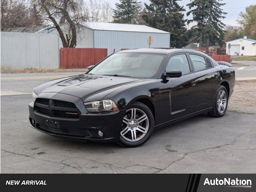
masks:
{"type": "Polygon", "coordinates": [[[106,0],[89,0],[88,12],[92,22],[110,22],[112,19],[112,7],[106,0]]]}

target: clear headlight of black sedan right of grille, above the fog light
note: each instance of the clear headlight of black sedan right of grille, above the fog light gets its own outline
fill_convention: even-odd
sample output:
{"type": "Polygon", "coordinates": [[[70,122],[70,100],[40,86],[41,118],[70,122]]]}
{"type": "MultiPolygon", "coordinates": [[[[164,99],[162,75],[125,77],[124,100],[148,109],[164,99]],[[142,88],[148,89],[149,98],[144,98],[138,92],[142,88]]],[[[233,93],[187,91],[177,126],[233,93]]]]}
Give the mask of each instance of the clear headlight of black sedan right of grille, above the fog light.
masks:
{"type": "Polygon", "coordinates": [[[92,101],[84,103],[89,112],[118,111],[118,106],[112,100],[92,101]]]}

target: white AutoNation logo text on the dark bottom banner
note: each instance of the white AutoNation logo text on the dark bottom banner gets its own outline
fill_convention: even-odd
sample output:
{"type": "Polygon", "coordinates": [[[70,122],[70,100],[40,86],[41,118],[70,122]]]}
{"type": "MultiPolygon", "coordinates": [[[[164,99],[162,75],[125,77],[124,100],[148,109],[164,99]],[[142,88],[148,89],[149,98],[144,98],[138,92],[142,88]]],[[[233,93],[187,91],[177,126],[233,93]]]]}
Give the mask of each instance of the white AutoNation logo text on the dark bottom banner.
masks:
{"type": "Polygon", "coordinates": [[[252,188],[252,180],[250,179],[230,179],[230,178],[224,178],[224,179],[208,179],[206,178],[204,181],[204,185],[225,185],[225,187],[235,187],[235,188],[252,188]]]}

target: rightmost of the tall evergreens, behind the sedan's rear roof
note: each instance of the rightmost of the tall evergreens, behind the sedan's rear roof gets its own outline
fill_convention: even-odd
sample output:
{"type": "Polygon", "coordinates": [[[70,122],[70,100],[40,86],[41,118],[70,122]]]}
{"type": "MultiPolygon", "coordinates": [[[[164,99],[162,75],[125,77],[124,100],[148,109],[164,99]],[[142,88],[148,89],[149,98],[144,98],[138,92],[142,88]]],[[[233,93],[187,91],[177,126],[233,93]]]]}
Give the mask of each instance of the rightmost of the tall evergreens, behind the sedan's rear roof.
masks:
{"type": "Polygon", "coordinates": [[[208,47],[211,44],[223,44],[224,38],[224,27],[225,24],[221,22],[221,19],[226,18],[226,12],[223,12],[221,6],[225,3],[221,3],[222,0],[190,0],[191,2],[187,5],[190,11],[187,15],[192,14],[193,20],[196,21],[196,26],[192,29],[196,29],[197,32],[194,33],[198,37],[199,47],[205,43],[206,52],[208,53],[208,47]]]}

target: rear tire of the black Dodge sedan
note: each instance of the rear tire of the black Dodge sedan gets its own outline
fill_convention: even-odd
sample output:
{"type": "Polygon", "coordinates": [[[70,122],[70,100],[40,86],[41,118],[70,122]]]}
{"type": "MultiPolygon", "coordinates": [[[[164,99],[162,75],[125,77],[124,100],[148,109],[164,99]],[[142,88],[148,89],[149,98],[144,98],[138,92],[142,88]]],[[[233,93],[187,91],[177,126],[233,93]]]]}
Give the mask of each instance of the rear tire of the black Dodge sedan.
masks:
{"type": "MultiPolygon", "coordinates": [[[[224,101],[224,99],[223,99],[223,101],[224,101]]],[[[223,85],[219,85],[218,90],[216,91],[216,96],[215,96],[215,99],[214,99],[214,105],[213,105],[212,111],[208,112],[208,115],[212,116],[212,117],[222,117],[226,114],[227,108],[228,108],[228,92],[227,92],[227,89],[223,85]],[[222,106],[224,104],[224,103],[222,103],[222,98],[220,98],[221,93],[223,93],[224,97],[226,97],[226,98],[224,98],[224,99],[226,99],[226,104],[225,104],[224,110],[223,110],[222,107],[218,106],[220,102],[221,102],[222,106]]]]}

